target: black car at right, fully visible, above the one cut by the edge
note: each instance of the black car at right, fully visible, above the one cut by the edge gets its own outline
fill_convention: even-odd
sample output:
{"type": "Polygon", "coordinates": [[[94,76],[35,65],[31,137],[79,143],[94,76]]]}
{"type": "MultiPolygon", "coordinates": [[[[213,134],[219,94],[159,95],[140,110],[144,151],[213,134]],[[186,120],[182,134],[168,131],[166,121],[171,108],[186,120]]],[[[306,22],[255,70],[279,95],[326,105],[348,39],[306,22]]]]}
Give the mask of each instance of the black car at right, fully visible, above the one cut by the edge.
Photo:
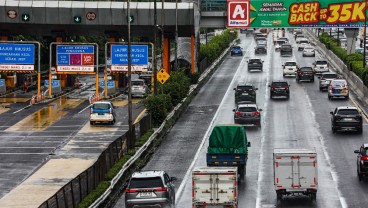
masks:
{"type": "Polygon", "coordinates": [[[337,107],[330,114],[333,133],[337,131],[356,131],[361,134],[363,132],[363,119],[357,108],[337,107]]]}

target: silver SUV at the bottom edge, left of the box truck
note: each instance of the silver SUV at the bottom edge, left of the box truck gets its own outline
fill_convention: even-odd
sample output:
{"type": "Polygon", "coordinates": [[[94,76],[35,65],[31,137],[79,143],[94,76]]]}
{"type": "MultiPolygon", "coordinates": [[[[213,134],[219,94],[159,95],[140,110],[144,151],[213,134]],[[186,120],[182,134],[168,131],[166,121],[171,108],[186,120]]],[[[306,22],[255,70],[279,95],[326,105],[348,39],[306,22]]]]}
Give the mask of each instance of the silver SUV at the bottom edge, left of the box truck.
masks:
{"type": "Polygon", "coordinates": [[[141,171],[131,176],[125,190],[126,208],[173,208],[175,189],[173,181],[165,171],[141,171]]]}

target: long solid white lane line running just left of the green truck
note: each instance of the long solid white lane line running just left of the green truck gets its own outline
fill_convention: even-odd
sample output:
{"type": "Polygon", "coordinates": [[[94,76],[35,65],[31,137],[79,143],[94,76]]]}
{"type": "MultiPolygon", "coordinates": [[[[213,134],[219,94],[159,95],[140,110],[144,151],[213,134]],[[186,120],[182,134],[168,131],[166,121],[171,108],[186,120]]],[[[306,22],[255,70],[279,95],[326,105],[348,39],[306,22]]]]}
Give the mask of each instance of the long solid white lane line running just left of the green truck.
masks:
{"type": "Polygon", "coordinates": [[[199,153],[201,152],[201,149],[204,146],[204,143],[205,143],[205,141],[206,141],[206,139],[208,137],[208,134],[210,133],[210,130],[212,130],[212,128],[214,126],[214,122],[215,122],[215,120],[217,118],[217,115],[220,112],[220,109],[221,109],[222,105],[225,102],[225,99],[224,98],[226,97],[227,94],[229,94],[233,90],[232,89],[232,86],[234,85],[235,80],[238,78],[240,72],[242,71],[241,69],[244,67],[243,63],[246,60],[246,54],[248,54],[249,52],[250,52],[250,50],[248,49],[247,52],[244,54],[244,56],[243,56],[243,58],[242,58],[242,60],[241,60],[241,62],[239,64],[239,66],[238,66],[238,69],[237,69],[237,71],[236,71],[233,79],[231,80],[231,83],[230,83],[229,87],[227,88],[226,93],[225,93],[223,99],[221,100],[221,103],[220,103],[219,107],[217,108],[217,111],[216,111],[215,115],[212,118],[212,121],[211,121],[208,129],[207,129],[205,135],[202,138],[202,142],[201,142],[201,144],[199,145],[199,147],[197,149],[197,152],[196,152],[196,154],[195,154],[195,156],[194,156],[194,158],[192,160],[192,163],[190,164],[187,172],[184,175],[184,178],[183,178],[183,180],[182,180],[182,182],[181,182],[181,184],[180,184],[180,186],[179,186],[179,188],[178,188],[178,190],[176,192],[176,195],[175,195],[175,199],[176,199],[177,202],[180,200],[180,196],[181,196],[181,194],[182,194],[182,192],[184,190],[185,185],[187,184],[187,181],[189,179],[189,176],[190,176],[190,174],[191,174],[191,172],[192,172],[192,170],[194,168],[194,164],[198,160],[199,153]]]}

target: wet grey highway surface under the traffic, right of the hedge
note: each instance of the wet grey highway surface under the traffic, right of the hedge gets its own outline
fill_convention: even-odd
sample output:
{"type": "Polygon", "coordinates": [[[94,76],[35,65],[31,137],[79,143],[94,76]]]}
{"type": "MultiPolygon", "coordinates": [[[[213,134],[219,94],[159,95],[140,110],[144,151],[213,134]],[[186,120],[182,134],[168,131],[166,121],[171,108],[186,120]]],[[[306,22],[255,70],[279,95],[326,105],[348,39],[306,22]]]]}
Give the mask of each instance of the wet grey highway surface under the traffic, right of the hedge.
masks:
{"type": "MultiPolygon", "coordinates": [[[[290,33],[287,37],[295,45],[290,33]]],[[[319,54],[304,58],[296,45],[292,57],[280,57],[268,36],[268,54],[254,55],[253,37],[240,34],[243,57],[227,56],[208,83],[193,99],[188,110],[177,121],[144,170],[165,170],[178,178],[176,207],[188,208],[191,200],[191,170],[206,166],[205,155],[208,134],[213,125],[232,124],[234,104],[233,88],[238,82],[258,87],[257,104],[263,109],[262,128],[247,128],[249,148],[247,174],[239,186],[239,207],[277,207],[273,185],[272,153],[274,148],[315,148],[318,154],[319,187],[317,202],[308,197],[286,197],[282,207],[366,207],[367,183],[359,182],[356,174],[356,155],[364,142],[368,142],[367,122],[364,119],[362,135],[333,134],[329,112],[338,106],[354,106],[352,100],[329,101],[326,92],[314,83],[296,83],[294,77],[283,78],[282,64],[296,60],[300,66],[311,66],[319,54]],[[246,60],[261,57],[263,72],[248,72],[246,60]],[[289,100],[270,100],[269,88],[273,80],[286,80],[291,85],[289,100]]],[[[356,100],[354,93],[351,98],[356,100]]],[[[124,196],[115,207],[124,207],[124,196]]]]}

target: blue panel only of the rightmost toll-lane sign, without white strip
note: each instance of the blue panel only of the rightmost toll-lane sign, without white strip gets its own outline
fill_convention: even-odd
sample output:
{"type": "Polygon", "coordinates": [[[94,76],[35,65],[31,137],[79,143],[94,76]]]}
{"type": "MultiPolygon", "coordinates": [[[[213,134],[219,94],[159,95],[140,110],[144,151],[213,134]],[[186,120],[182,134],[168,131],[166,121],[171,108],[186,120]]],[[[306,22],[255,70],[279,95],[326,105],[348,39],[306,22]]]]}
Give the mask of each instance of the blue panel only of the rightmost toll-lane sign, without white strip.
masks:
{"type": "MultiPolygon", "coordinates": [[[[148,45],[132,45],[132,65],[148,64],[148,45]]],[[[112,65],[128,65],[128,45],[111,45],[112,65]]]]}

